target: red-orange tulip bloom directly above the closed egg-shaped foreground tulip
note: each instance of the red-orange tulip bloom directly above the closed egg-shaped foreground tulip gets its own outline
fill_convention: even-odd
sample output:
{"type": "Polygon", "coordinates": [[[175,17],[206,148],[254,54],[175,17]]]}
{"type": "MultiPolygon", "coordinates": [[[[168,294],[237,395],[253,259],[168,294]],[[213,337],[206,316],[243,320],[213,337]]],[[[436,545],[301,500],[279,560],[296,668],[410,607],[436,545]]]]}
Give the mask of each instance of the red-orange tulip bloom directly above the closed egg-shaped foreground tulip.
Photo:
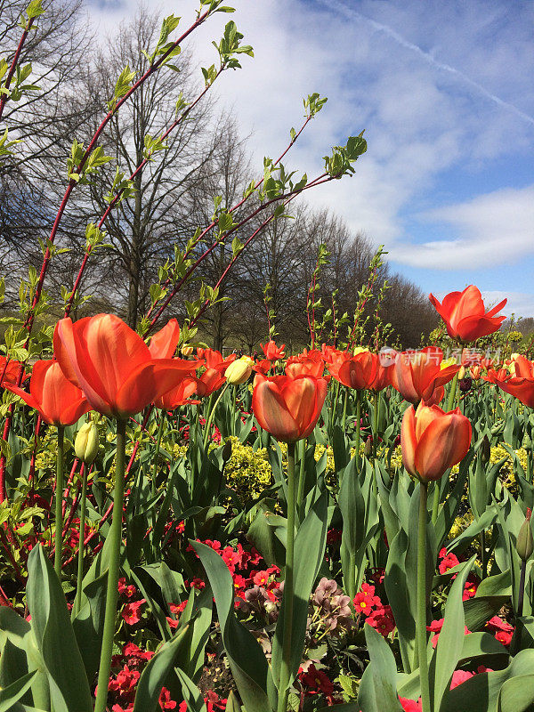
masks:
{"type": "Polygon", "coordinates": [[[391,370],[392,386],[410,403],[430,400],[433,391],[457,374],[459,366],[441,368],[443,352],[428,346],[417,352],[401,352],[391,370]]]}

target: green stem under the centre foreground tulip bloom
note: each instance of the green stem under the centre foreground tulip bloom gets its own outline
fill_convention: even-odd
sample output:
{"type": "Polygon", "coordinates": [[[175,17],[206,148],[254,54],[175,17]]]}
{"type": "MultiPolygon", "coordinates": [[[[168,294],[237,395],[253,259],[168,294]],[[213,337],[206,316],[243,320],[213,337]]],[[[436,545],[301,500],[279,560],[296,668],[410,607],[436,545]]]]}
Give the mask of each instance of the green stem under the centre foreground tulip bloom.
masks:
{"type": "MultiPolygon", "coordinates": [[[[286,576],[284,579],[284,629],[282,632],[282,661],[278,712],[287,712],[289,678],[291,676],[291,633],[293,629],[293,581],[295,547],[295,442],[287,443],[287,543],[286,576]]],[[[96,711],[95,711],[96,712],[96,711]]],[[[100,710],[98,710],[100,712],[100,710]]]]}

